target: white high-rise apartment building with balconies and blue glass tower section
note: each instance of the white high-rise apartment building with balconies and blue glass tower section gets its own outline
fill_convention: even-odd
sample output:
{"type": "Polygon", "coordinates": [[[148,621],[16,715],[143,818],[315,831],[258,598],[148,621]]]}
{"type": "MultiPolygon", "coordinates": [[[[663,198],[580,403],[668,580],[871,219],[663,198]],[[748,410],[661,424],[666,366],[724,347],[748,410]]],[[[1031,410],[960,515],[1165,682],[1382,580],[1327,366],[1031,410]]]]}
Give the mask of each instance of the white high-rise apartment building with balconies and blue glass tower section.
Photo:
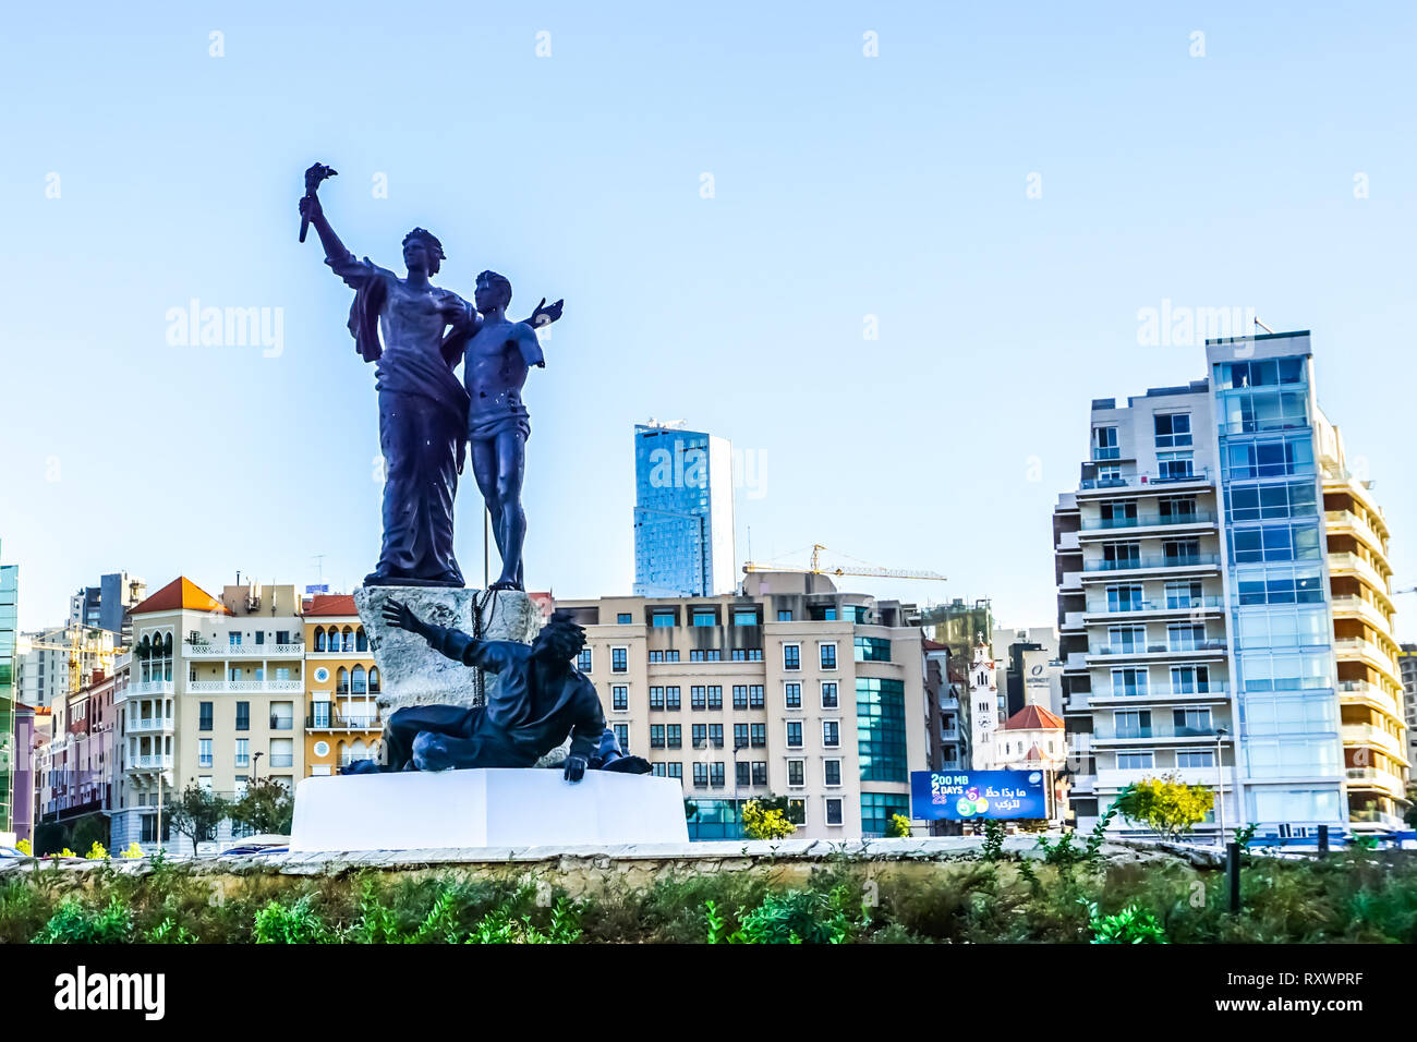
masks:
{"type": "Polygon", "coordinates": [[[1401,828],[1387,526],[1318,405],[1309,335],[1206,360],[1204,380],[1095,400],[1054,512],[1077,824],[1176,775],[1223,791],[1227,831],[1401,828]]]}

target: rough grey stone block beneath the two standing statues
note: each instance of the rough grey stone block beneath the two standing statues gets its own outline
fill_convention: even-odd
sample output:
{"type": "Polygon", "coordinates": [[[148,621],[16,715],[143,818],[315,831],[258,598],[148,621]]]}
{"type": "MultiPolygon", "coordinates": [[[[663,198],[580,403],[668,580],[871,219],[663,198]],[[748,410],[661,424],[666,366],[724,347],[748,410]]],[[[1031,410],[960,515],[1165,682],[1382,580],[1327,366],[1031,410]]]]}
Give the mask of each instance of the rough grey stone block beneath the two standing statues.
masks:
{"type": "MultiPolygon", "coordinates": [[[[383,717],[404,706],[479,706],[479,669],[444,658],[417,634],[384,622],[388,598],[402,601],[427,622],[475,634],[475,612],[482,605],[482,639],[530,642],[541,629],[541,614],[520,590],[497,590],[490,597],[480,590],[424,586],[367,586],[354,591],[354,607],[364,621],[368,646],[378,663],[378,707],[383,717]]],[[[483,678],[495,690],[497,678],[483,678]]]]}

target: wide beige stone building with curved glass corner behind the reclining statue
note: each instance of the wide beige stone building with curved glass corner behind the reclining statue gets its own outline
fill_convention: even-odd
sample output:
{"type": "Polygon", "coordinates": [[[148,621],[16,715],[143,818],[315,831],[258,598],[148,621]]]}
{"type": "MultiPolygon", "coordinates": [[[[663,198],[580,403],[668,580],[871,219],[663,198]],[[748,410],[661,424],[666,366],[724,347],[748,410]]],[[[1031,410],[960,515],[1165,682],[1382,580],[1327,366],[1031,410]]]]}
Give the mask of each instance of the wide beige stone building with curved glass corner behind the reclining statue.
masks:
{"type": "Polygon", "coordinates": [[[805,838],[910,815],[910,771],[930,767],[914,605],[755,573],[741,594],[555,607],[587,628],[580,666],[621,744],[682,780],[691,838],[741,835],[738,808],[768,794],[805,838]]]}

